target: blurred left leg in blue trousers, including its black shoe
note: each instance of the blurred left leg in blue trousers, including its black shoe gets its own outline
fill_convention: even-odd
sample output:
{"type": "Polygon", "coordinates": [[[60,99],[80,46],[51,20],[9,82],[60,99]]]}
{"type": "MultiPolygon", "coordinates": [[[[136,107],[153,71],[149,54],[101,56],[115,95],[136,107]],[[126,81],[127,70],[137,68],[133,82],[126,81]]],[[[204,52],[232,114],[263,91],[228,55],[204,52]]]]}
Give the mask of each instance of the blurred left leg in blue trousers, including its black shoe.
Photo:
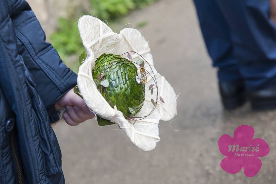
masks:
{"type": "Polygon", "coordinates": [[[218,68],[223,105],[227,109],[238,107],[246,101],[244,80],[233,53],[229,27],[216,0],[194,0],[194,3],[212,65],[218,68]]]}

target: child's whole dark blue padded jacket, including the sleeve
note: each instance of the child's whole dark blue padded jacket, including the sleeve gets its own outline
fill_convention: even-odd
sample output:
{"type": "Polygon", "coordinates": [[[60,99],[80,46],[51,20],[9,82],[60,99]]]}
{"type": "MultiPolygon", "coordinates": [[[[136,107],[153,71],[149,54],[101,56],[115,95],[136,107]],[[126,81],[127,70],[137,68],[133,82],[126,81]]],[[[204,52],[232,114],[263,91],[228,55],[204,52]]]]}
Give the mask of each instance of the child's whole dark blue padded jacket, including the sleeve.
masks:
{"type": "Polygon", "coordinates": [[[0,184],[64,183],[50,122],[76,74],[24,0],[0,0],[0,184]]]}

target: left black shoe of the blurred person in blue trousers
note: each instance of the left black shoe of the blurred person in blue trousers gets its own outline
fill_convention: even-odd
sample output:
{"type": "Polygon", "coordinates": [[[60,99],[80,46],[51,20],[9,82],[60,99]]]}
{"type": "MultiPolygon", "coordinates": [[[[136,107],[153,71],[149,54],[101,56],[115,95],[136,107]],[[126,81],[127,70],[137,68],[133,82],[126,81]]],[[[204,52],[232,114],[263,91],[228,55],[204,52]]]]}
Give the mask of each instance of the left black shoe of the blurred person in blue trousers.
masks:
{"type": "Polygon", "coordinates": [[[246,90],[243,80],[219,82],[221,101],[225,109],[231,110],[246,102],[246,90]]]}

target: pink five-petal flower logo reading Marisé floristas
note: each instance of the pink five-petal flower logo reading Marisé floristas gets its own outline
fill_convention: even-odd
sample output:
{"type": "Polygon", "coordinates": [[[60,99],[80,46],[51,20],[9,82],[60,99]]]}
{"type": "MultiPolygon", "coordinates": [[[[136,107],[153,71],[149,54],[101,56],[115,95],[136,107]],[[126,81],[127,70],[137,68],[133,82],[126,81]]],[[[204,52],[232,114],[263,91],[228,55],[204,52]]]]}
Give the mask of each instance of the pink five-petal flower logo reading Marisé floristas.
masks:
{"type": "Polygon", "coordinates": [[[269,154],[269,145],[260,138],[253,139],[255,130],[249,125],[241,125],[234,132],[234,137],[224,134],[218,139],[218,148],[226,156],[221,161],[221,168],[227,173],[236,174],[244,168],[247,177],[255,176],[262,167],[259,157],[269,154]]]}

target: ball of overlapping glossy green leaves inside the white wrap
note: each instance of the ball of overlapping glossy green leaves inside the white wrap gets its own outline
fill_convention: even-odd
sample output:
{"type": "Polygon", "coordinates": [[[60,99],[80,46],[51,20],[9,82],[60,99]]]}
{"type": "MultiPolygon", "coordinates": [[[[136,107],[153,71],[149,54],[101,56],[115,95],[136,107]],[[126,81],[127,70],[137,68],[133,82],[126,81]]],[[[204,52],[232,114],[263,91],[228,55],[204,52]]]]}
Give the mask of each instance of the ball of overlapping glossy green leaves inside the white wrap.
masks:
{"type": "Polygon", "coordinates": [[[95,61],[94,80],[108,80],[109,86],[97,85],[101,95],[125,116],[137,114],[145,100],[145,85],[136,81],[137,67],[129,60],[114,54],[102,54],[95,61]],[[102,78],[99,79],[100,76],[102,78]]]}

